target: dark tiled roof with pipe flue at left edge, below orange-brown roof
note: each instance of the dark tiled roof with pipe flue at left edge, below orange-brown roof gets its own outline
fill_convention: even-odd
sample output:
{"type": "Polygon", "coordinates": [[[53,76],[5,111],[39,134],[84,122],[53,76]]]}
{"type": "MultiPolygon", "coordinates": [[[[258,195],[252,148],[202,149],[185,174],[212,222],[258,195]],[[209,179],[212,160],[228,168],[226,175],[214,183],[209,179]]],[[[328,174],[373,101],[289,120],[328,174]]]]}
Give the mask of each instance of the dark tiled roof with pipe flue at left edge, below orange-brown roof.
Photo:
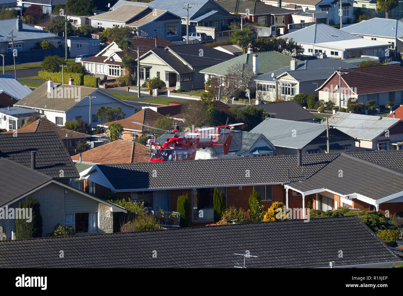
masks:
{"type": "Polygon", "coordinates": [[[56,132],[27,132],[17,137],[0,133],[0,157],[31,167],[31,151],[36,151],[36,170],[51,177],[79,176],[73,161],[56,132]]]}

